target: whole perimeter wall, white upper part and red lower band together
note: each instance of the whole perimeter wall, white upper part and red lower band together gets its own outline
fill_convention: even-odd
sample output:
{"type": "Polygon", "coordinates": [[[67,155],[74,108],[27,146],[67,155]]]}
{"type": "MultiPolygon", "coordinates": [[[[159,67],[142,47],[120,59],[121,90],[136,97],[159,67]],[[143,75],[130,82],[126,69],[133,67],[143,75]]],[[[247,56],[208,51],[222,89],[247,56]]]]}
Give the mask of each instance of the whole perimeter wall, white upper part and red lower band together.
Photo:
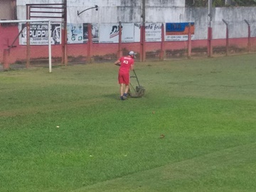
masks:
{"type": "MultiPolygon", "coordinates": [[[[18,19],[26,19],[25,1],[17,1],[18,19]]],[[[207,55],[208,43],[208,9],[186,8],[185,1],[146,1],[146,22],[148,23],[180,23],[194,22],[195,33],[193,36],[192,55],[207,55]]],[[[30,1],[31,3],[31,1],[30,1]]],[[[42,1],[33,1],[35,4],[42,1]]],[[[46,1],[43,1],[46,3],[46,1]]],[[[49,2],[48,2],[49,3],[49,2]]],[[[62,3],[62,1],[50,1],[50,3],[62,3]]],[[[132,1],[97,1],[89,0],[86,5],[83,1],[68,1],[68,23],[141,23],[142,4],[136,0],[132,1]],[[98,4],[99,10],[90,9],[78,16],[77,11],[82,11],[98,4]]],[[[213,9],[213,53],[225,52],[227,43],[226,26],[223,19],[227,21],[229,28],[230,52],[240,52],[247,49],[248,32],[247,20],[250,23],[251,50],[256,50],[256,8],[255,7],[225,7],[213,9]]],[[[4,50],[13,43],[18,36],[17,26],[0,26],[0,63],[4,60],[4,50]]],[[[87,55],[87,43],[68,44],[67,54],[69,60],[84,60],[87,55]]],[[[91,55],[99,60],[116,58],[118,43],[92,43],[91,55]]],[[[166,41],[166,58],[184,56],[187,53],[188,41],[166,41]]],[[[31,58],[47,58],[47,46],[32,46],[31,58]]],[[[160,42],[146,42],[146,58],[158,58],[161,48],[160,42]]],[[[140,43],[122,43],[123,53],[134,50],[139,53],[140,43]]],[[[26,46],[20,45],[18,41],[8,53],[9,63],[26,60],[26,46]]],[[[62,46],[52,46],[53,58],[60,58],[62,46]]]]}

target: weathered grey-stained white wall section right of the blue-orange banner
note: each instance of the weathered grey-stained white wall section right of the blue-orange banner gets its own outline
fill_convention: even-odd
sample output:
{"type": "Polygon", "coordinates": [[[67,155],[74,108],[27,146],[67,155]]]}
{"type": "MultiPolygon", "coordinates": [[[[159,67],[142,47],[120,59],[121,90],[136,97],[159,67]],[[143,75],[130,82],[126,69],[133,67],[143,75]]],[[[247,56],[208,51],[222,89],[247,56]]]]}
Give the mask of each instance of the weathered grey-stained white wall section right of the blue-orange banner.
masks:
{"type": "MultiPolygon", "coordinates": [[[[185,20],[195,22],[195,40],[207,38],[208,9],[207,8],[186,8],[185,20]]],[[[226,25],[228,23],[230,38],[247,37],[247,24],[250,23],[251,36],[256,37],[256,7],[225,7],[213,9],[213,39],[225,38],[226,25]]]]}

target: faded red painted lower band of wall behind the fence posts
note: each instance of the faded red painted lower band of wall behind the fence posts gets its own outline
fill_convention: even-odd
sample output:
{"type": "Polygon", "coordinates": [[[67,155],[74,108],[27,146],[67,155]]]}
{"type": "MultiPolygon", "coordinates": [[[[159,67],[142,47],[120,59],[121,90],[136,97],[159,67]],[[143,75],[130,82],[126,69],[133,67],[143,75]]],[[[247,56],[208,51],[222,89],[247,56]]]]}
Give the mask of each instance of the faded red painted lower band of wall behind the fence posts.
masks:
{"type": "MultiPolygon", "coordinates": [[[[18,36],[17,26],[0,26],[0,63],[4,61],[4,49],[9,48],[14,39],[18,36]]],[[[237,48],[247,48],[247,38],[233,38],[229,39],[229,46],[235,46],[237,48]]],[[[214,47],[224,47],[225,39],[213,40],[214,47]]],[[[196,48],[206,48],[207,40],[192,41],[192,53],[196,48]]],[[[256,38],[251,38],[251,48],[256,50],[256,38]]],[[[126,51],[134,50],[139,53],[140,43],[122,43],[122,50],[124,55],[126,51]]],[[[160,42],[146,43],[146,53],[159,51],[161,48],[160,42]]],[[[165,42],[165,49],[167,50],[181,50],[181,52],[187,50],[187,41],[169,41],[165,42]]],[[[104,56],[104,55],[117,55],[118,43],[92,43],[91,55],[92,56],[104,56]]],[[[68,57],[86,57],[87,44],[68,44],[67,47],[68,57]]],[[[62,46],[52,46],[52,57],[61,58],[62,46]]],[[[9,63],[15,63],[19,60],[26,60],[26,46],[20,46],[17,41],[14,43],[14,47],[10,49],[9,56],[7,57],[9,63]]],[[[48,46],[31,46],[31,58],[48,58],[48,46]]]]}

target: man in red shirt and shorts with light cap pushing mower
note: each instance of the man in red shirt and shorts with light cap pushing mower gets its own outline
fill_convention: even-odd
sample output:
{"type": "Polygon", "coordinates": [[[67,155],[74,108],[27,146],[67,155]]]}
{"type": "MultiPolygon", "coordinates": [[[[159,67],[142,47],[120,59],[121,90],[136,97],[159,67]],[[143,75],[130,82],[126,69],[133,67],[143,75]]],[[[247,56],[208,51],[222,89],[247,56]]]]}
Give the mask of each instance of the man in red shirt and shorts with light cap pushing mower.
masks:
{"type": "Polygon", "coordinates": [[[118,73],[120,99],[126,100],[129,91],[129,71],[134,70],[134,52],[130,51],[129,55],[119,58],[114,65],[120,66],[118,73]]]}

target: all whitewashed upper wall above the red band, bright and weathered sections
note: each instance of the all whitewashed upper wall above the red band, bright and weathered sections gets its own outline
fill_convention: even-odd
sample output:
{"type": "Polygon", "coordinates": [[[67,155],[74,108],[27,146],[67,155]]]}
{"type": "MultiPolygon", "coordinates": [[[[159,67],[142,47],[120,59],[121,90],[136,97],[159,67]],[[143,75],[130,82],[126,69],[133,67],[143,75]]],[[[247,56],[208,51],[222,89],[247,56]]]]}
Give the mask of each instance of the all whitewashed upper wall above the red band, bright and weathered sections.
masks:
{"type": "MultiPolygon", "coordinates": [[[[18,19],[26,19],[26,4],[63,3],[62,0],[17,0],[18,19]]],[[[142,0],[68,0],[68,23],[141,23],[142,0]],[[90,9],[93,6],[99,10],[90,9]]],[[[256,37],[256,7],[226,7],[213,9],[213,38],[225,38],[225,19],[229,23],[230,38],[247,36],[247,24],[251,24],[251,36],[256,37]]],[[[186,8],[185,0],[146,0],[146,22],[171,23],[195,22],[195,40],[207,39],[208,9],[186,8]]]]}

